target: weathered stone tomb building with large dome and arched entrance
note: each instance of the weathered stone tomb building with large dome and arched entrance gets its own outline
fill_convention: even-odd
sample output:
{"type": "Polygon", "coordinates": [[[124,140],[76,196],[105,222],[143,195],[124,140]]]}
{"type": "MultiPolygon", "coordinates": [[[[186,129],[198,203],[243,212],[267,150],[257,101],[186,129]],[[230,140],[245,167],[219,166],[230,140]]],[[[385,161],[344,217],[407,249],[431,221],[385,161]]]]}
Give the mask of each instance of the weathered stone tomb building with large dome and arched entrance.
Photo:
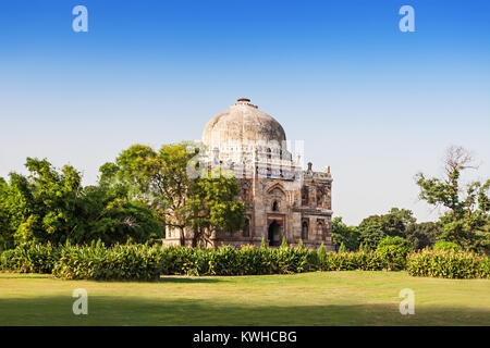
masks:
{"type": "MultiPolygon", "coordinates": [[[[314,172],[308,163],[304,171],[301,153],[293,159],[278,121],[242,98],[206,124],[203,142],[207,165],[232,170],[247,206],[244,229],[215,233],[212,245],[259,247],[265,238],[275,247],[285,237],[294,246],[302,239],[307,248],[323,243],[328,251],[334,249],[330,169],[314,172]]],[[[186,244],[191,240],[192,231],[186,231],[186,244]]],[[[179,244],[179,232],[167,229],[164,243],[179,244]]]]}

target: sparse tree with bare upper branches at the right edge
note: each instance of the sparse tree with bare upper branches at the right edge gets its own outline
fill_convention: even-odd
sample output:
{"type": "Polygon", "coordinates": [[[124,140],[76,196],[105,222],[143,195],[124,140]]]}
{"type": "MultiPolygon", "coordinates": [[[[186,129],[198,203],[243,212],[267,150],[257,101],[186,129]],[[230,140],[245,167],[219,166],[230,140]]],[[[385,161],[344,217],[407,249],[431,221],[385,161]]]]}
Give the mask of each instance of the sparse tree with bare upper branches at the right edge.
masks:
{"type": "Polygon", "coordinates": [[[476,169],[470,153],[462,147],[450,147],[444,158],[444,177],[416,175],[419,197],[429,204],[442,207],[441,234],[438,240],[456,243],[465,249],[490,252],[489,224],[490,179],[471,182],[463,187],[461,174],[476,169]]]}

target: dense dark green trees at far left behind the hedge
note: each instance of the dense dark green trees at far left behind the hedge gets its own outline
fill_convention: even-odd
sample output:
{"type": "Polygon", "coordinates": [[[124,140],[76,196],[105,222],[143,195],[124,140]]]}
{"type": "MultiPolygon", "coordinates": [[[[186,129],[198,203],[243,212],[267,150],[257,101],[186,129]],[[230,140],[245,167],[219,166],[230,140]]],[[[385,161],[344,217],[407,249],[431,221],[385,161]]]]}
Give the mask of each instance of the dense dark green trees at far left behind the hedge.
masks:
{"type": "Polygon", "coordinates": [[[82,176],[74,167],[65,165],[60,172],[47,160],[28,158],[26,167],[28,176],[11,173],[10,182],[1,183],[4,248],[27,241],[102,239],[111,244],[161,236],[151,212],[127,200],[124,187],[83,187],[82,176]]]}

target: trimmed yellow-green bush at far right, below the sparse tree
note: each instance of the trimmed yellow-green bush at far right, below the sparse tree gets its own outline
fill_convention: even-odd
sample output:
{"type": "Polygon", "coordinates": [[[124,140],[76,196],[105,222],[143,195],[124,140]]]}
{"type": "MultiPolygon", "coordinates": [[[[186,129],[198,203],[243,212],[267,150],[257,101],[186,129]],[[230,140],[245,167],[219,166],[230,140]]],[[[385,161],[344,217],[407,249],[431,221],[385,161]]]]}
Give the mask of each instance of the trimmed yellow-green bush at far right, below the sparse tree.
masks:
{"type": "Polygon", "coordinates": [[[413,276],[490,278],[490,258],[466,251],[425,249],[407,256],[406,271],[413,276]]]}

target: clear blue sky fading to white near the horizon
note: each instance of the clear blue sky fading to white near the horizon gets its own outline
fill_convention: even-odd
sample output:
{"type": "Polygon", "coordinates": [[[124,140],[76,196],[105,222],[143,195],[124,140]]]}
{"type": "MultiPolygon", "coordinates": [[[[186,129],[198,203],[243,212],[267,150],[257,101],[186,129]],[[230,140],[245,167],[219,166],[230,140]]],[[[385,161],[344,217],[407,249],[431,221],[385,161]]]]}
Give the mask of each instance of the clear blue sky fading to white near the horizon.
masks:
{"type": "Polygon", "coordinates": [[[452,144],[490,174],[488,1],[4,1],[0,176],[26,157],[85,183],[132,144],[199,139],[238,97],[330,165],[351,224],[391,207],[420,221],[414,175],[452,144]],[[72,9],[88,9],[88,33],[72,9]],[[399,9],[415,9],[402,33],[399,9]]]}

